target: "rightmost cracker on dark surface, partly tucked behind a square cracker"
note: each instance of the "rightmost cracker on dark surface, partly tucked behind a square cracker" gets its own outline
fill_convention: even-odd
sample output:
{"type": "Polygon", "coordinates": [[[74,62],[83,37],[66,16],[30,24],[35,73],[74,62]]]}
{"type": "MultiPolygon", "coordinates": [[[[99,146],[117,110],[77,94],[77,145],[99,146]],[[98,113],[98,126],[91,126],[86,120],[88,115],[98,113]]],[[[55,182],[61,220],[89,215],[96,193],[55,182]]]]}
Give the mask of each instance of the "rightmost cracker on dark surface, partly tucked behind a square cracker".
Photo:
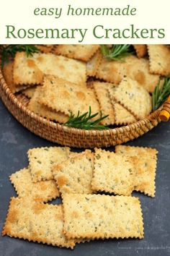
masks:
{"type": "Polygon", "coordinates": [[[158,151],[154,148],[140,148],[117,145],[116,153],[132,158],[135,165],[134,190],[155,196],[156,162],[158,151]]]}

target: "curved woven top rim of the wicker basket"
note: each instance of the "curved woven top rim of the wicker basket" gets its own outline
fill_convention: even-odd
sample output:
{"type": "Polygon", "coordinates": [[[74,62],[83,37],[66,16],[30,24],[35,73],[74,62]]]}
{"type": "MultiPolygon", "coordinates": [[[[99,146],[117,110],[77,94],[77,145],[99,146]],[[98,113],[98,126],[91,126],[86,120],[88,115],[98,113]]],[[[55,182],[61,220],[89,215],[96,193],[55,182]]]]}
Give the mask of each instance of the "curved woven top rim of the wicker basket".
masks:
{"type": "Polygon", "coordinates": [[[63,124],[55,123],[54,121],[50,121],[48,119],[45,119],[41,116],[38,116],[34,112],[30,111],[26,106],[22,105],[21,102],[17,99],[17,97],[12,93],[12,91],[9,89],[9,86],[6,84],[6,81],[4,80],[4,74],[2,72],[2,69],[0,68],[0,85],[2,86],[2,89],[5,91],[6,95],[9,96],[12,103],[14,103],[17,108],[22,108],[22,111],[24,111],[25,114],[28,116],[31,116],[33,119],[37,119],[38,121],[42,122],[43,124],[50,125],[51,127],[54,127],[55,129],[64,130],[65,132],[72,132],[73,134],[81,133],[84,135],[111,135],[116,134],[118,131],[121,132],[122,129],[134,129],[134,127],[138,127],[139,124],[146,124],[146,121],[148,120],[154,120],[158,118],[161,108],[158,108],[156,111],[153,111],[151,114],[146,116],[144,119],[140,119],[138,121],[135,121],[133,124],[127,124],[122,125],[121,127],[115,127],[115,128],[109,128],[109,129],[78,129],[73,127],[66,127],[63,124]]]}

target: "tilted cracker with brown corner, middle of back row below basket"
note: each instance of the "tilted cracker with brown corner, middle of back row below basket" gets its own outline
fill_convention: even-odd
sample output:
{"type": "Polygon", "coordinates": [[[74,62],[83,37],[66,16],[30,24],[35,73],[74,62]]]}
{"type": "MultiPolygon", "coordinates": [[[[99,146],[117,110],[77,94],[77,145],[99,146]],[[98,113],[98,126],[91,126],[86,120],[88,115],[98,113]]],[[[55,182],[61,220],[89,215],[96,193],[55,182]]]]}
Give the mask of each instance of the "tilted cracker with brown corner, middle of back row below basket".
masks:
{"type": "Polygon", "coordinates": [[[93,153],[86,150],[53,167],[53,177],[62,195],[92,193],[93,160],[93,153]]]}

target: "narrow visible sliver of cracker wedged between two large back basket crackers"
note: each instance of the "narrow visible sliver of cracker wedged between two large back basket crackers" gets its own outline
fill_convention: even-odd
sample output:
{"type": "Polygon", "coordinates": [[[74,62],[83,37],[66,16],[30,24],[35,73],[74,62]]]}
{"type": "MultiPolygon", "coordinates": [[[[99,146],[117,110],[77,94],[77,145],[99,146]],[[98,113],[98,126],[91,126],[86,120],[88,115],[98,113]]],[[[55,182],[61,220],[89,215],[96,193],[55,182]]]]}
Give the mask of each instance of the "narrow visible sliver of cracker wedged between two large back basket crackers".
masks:
{"type": "Polygon", "coordinates": [[[98,50],[94,56],[86,63],[86,75],[89,77],[94,77],[97,74],[97,69],[100,62],[102,61],[101,51],[98,50]]]}

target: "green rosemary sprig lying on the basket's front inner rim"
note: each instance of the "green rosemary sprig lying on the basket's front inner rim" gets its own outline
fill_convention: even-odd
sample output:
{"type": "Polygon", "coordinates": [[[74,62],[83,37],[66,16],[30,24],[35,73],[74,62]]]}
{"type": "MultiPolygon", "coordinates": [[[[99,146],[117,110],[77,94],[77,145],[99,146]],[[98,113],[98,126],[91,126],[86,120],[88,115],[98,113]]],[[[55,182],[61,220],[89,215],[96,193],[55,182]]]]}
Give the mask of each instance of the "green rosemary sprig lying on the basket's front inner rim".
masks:
{"type": "Polygon", "coordinates": [[[107,118],[107,116],[102,116],[100,112],[100,117],[96,120],[91,121],[94,117],[96,117],[99,113],[91,114],[91,106],[89,106],[89,112],[84,114],[80,114],[78,112],[77,116],[71,114],[68,121],[64,125],[67,127],[74,127],[79,129],[109,129],[107,126],[99,124],[100,121],[107,118]]]}

